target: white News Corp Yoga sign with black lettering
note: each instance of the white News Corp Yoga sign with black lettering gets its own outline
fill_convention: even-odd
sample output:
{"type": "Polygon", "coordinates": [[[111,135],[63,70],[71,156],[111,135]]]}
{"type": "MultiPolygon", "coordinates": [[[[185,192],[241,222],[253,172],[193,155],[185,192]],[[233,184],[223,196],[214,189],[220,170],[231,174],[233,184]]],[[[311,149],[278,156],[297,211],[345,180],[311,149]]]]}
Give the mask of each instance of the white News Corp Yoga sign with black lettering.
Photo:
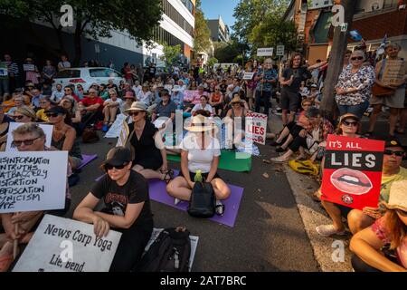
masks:
{"type": "Polygon", "coordinates": [[[97,238],[93,225],[45,215],[13,272],[108,272],[121,233],[97,238]]]}

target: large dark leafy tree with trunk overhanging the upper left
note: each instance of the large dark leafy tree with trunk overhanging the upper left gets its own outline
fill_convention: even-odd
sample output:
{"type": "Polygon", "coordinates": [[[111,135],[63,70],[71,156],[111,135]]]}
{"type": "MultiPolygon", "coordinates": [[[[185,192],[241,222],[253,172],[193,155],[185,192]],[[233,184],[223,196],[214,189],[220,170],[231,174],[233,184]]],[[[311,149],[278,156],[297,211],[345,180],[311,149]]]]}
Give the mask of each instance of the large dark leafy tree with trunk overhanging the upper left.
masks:
{"type": "Polygon", "coordinates": [[[128,32],[138,44],[151,44],[154,28],[161,20],[161,0],[0,0],[0,14],[14,18],[16,22],[31,23],[41,20],[50,24],[57,35],[59,52],[65,53],[60,24],[62,5],[73,8],[73,64],[80,63],[81,38],[88,35],[97,40],[110,37],[111,30],[128,32]]]}

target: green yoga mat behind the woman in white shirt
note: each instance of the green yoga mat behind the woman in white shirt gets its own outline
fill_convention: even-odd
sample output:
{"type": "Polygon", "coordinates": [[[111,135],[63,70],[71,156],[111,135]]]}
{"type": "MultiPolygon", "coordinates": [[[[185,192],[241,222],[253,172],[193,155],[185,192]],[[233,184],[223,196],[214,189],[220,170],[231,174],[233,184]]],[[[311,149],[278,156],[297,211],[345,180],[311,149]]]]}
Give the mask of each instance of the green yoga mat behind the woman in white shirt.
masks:
{"type": "MultiPolygon", "coordinates": [[[[181,156],[167,154],[166,159],[179,162],[181,160],[181,156]]],[[[250,171],[251,155],[248,153],[236,153],[229,150],[222,150],[221,160],[219,161],[218,168],[235,172],[250,171]],[[237,157],[239,157],[239,159],[237,157]]]]}

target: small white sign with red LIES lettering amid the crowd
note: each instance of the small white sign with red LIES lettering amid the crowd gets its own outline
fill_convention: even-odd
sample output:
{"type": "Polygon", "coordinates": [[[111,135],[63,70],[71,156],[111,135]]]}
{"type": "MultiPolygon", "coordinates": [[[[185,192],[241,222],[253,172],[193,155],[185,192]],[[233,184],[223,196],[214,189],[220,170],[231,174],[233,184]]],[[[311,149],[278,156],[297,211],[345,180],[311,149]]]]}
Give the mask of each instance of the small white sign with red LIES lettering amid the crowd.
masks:
{"type": "Polygon", "coordinates": [[[267,115],[251,112],[246,115],[245,139],[266,144],[267,115]]]}

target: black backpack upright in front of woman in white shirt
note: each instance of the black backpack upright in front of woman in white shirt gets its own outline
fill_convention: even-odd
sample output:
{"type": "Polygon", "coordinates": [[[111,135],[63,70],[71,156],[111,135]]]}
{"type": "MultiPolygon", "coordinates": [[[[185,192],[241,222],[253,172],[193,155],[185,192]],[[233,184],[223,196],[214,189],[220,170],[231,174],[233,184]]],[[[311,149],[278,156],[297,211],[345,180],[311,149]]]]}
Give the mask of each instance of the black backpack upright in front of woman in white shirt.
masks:
{"type": "Polygon", "coordinates": [[[194,218],[212,218],[215,214],[216,198],[212,184],[195,182],[189,200],[188,214],[194,218]]]}

